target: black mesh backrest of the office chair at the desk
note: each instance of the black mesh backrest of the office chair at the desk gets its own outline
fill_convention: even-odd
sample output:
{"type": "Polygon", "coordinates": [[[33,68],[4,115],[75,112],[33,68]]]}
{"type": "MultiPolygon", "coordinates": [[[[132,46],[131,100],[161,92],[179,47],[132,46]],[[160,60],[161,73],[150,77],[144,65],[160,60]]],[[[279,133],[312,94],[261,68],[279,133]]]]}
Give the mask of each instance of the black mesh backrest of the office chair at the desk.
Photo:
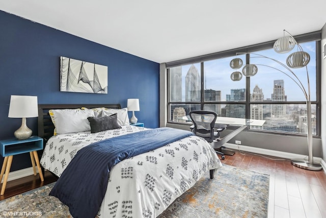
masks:
{"type": "Polygon", "coordinates": [[[189,116],[193,121],[193,133],[197,136],[205,138],[208,142],[214,140],[214,125],[218,115],[212,111],[195,110],[189,112],[189,116]]]}

